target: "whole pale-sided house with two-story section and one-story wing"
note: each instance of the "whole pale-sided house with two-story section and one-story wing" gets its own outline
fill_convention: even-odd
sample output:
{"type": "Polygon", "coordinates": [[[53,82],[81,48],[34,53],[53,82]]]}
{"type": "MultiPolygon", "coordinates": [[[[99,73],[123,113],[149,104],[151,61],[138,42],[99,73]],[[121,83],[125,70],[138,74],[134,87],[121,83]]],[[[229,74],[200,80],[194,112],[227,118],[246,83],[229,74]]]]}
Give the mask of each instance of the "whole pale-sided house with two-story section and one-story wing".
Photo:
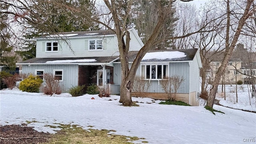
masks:
{"type": "MultiPolygon", "coordinates": [[[[131,64],[144,44],[133,28],[129,32],[131,64]]],[[[120,93],[121,64],[118,61],[118,42],[111,30],[65,32],[41,36],[35,40],[36,58],[18,63],[22,65],[23,74],[32,73],[43,79],[45,73],[53,73],[58,77],[64,91],[72,86],[97,84],[110,87],[111,94],[120,93]]],[[[159,84],[163,76],[184,76],[185,81],[176,98],[196,106],[200,67],[202,63],[198,49],[157,50],[144,56],[136,74],[144,74],[145,80],[150,81],[152,86],[147,96],[158,99],[166,99],[159,84]],[[152,54],[160,57],[152,57],[152,54]],[[167,54],[167,58],[163,58],[163,54],[167,54]]]]}

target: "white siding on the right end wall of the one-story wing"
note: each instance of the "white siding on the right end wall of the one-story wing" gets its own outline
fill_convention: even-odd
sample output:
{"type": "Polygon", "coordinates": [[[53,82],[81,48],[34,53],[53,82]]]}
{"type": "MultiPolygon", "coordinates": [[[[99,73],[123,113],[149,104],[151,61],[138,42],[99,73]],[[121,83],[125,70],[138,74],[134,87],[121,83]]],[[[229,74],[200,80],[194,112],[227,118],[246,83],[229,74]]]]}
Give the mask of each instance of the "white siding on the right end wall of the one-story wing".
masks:
{"type": "Polygon", "coordinates": [[[190,62],[190,92],[199,91],[199,65],[197,56],[190,62]]]}

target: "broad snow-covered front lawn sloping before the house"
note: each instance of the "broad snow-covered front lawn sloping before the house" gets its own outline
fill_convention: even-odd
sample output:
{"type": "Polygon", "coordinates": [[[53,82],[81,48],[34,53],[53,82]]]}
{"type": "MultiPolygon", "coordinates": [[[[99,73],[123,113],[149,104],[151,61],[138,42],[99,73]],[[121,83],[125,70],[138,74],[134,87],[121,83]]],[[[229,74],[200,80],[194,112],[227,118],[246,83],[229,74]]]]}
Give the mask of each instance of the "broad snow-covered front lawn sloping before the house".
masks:
{"type": "Polygon", "coordinates": [[[132,98],[144,103],[124,107],[118,102],[119,96],[114,95],[68,96],[1,90],[1,125],[34,121],[28,126],[52,133],[54,128],[45,125],[77,124],[84,129],[94,126],[94,129],[116,130],[115,134],[146,138],[144,141],[151,144],[235,144],[256,139],[256,113],[252,112],[214,105],[225,113],[214,115],[203,106],[162,105],[150,98],[132,98]]]}

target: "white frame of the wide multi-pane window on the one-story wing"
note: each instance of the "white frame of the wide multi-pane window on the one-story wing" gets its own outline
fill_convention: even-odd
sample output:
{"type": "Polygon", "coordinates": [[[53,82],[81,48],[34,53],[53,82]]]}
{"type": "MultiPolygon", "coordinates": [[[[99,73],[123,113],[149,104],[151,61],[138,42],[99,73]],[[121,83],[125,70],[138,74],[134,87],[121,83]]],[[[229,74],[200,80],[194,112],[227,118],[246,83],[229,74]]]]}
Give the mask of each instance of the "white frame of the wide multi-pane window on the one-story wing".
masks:
{"type": "Polygon", "coordinates": [[[169,64],[168,63],[160,63],[160,64],[140,64],[140,76],[144,76],[144,80],[162,80],[163,76],[164,76],[164,65],[166,65],[167,67],[167,74],[166,76],[169,77],[169,64]],[[156,66],[156,74],[158,73],[158,70],[157,70],[157,66],[161,65],[162,66],[162,76],[161,78],[157,78],[157,75],[156,75],[156,78],[152,79],[152,66],[156,66]],[[142,67],[144,66],[144,74],[142,74],[142,67]],[[150,66],[150,78],[146,78],[146,66],[150,66]]]}

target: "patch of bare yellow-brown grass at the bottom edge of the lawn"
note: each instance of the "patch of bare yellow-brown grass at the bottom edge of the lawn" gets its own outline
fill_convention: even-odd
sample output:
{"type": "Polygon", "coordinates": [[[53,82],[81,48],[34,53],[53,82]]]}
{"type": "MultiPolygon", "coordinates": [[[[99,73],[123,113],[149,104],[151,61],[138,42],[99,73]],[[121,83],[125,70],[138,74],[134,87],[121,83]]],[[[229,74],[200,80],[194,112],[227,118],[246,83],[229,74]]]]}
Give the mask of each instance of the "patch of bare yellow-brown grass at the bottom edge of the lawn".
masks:
{"type": "Polygon", "coordinates": [[[109,134],[109,132],[116,132],[115,130],[84,130],[70,124],[60,124],[59,128],[62,130],[53,134],[47,144],[132,144],[134,140],[144,139],[136,136],[109,134]]]}

